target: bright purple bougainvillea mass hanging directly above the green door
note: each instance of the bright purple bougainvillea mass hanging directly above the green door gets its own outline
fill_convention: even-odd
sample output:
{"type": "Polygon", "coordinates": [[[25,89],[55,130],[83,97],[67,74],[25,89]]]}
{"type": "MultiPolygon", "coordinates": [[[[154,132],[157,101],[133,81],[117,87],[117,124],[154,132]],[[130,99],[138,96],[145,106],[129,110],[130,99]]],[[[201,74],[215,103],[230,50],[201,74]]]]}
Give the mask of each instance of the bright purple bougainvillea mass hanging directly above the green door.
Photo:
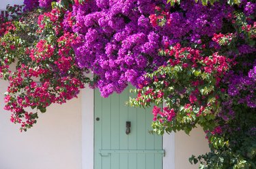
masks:
{"type": "Polygon", "coordinates": [[[147,67],[162,64],[160,38],[146,17],[154,10],[148,1],[88,1],[73,8],[72,29],[81,39],[74,45],[76,60],[98,75],[102,96],[122,92],[128,82],[137,86],[147,67]]]}

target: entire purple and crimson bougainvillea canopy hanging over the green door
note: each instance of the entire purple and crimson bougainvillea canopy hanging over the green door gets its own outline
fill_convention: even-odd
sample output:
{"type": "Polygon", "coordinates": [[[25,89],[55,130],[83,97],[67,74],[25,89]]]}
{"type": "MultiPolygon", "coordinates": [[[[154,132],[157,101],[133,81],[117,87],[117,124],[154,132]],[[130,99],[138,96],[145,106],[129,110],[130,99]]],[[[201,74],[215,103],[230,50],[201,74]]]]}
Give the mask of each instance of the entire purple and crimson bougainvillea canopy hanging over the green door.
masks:
{"type": "Polygon", "coordinates": [[[137,93],[130,105],[155,105],[154,132],[205,130],[211,151],[191,163],[256,168],[254,1],[24,4],[9,8],[16,15],[0,25],[1,78],[10,84],[5,109],[21,130],[85,83],[103,97],[130,83],[137,93]]]}

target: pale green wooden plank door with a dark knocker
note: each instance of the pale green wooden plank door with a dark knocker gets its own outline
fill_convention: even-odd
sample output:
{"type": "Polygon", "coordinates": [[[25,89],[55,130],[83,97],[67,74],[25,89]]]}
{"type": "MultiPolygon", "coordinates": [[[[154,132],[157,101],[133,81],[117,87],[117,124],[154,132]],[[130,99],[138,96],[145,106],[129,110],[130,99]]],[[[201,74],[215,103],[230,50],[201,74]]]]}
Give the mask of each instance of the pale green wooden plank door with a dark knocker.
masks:
{"type": "Polygon", "coordinates": [[[152,111],[126,106],[128,91],[109,98],[95,91],[94,169],[162,169],[162,136],[148,132],[152,111]]]}

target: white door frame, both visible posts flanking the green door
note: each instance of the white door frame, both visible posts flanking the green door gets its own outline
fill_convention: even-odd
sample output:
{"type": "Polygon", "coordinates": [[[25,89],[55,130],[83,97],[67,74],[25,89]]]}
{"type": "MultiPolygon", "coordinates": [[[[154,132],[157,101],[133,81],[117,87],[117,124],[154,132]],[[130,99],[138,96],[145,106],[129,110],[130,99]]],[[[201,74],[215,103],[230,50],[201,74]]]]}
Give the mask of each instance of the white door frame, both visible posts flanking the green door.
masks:
{"type": "MultiPolygon", "coordinates": [[[[85,86],[81,91],[82,112],[82,169],[94,169],[94,90],[85,86]]],[[[175,169],[175,134],[162,136],[162,149],[165,157],[162,157],[162,169],[175,169]]]]}

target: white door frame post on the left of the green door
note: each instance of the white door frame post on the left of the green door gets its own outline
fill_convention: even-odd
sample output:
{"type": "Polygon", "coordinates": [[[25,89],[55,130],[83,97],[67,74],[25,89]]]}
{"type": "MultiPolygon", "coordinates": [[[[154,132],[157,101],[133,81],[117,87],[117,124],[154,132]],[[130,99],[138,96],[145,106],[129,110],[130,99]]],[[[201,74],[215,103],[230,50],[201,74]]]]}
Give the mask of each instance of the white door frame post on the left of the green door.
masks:
{"type": "Polygon", "coordinates": [[[94,90],[82,91],[82,169],[94,169],[94,90]]]}

